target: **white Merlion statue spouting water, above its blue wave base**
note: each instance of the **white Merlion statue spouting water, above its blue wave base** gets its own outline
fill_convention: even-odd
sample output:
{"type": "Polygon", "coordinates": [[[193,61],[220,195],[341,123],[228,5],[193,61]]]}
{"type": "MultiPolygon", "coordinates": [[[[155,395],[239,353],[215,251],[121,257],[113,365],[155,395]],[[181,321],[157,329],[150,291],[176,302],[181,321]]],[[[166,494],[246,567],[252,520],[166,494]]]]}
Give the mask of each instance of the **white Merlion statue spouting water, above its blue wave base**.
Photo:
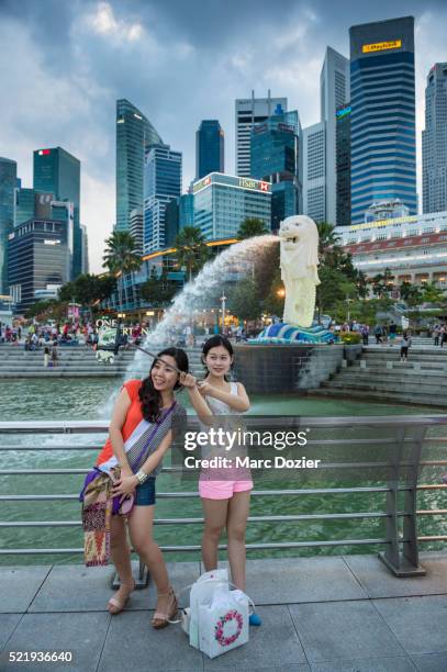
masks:
{"type": "Polygon", "coordinates": [[[312,326],[315,288],[320,284],[319,229],[311,217],[294,215],[281,222],[281,279],[286,288],[283,321],[294,326],[312,326]]]}

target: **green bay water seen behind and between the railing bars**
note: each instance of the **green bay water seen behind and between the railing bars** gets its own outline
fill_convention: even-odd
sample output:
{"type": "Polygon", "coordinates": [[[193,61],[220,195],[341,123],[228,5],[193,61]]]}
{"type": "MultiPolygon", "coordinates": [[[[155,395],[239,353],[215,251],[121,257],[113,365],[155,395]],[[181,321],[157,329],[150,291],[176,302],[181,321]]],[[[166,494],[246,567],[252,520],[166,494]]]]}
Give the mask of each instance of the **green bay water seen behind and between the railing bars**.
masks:
{"type": "MultiPolygon", "coordinates": [[[[0,385],[0,419],[1,421],[26,421],[26,419],[107,419],[110,414],[110,399],[116,394],[121,385],[118,379],[25,379],[20,381],[3,380],[0,385]]],[[[188,406],[186,393],[179,395],[179,401],[188,406]]],[[[191,412],[191,411],[190,411],[191,412]]],[[[250,413],[256,415],[282,415],[282,416],[383,416],[383,415],[427,415],[436,411],[429,407],[411,407],[407,405],[377,404],[360,402],[356,400],[305,397],[298,395],[255,395],[252,399],[250,413]]],[[[439,429],[434,430],[434,438],[440,436],[439,429]]],[[[0,469],[85,469],[91,468],[98,449],[103,441],[103,436],[59,436],[59,437],[30,437],[2,436],[2,445],[35,447],[32,451],[12,450],[0,452],[0,469]],[[80,445],[91,445],[92,450],[71,451],[74,441],[80,445]],[[41,446],[59,446],[63,449],[56,451],[40,450],[41,446]],[[64,448],[66,447],[66,448],[64,448]]],[[[431,459],[440,457],[443,446],[436,440],[429,444],[431,459]]],[[[439,468],[426,468],[423,480],[427,483],[439,482],[442,470],[439,468]]],[[[0,494],[74,494],[79,492],[82,475],[3,475],[0,482],[0,494]]],[[[358,482],[358,485],[368,484],[358,482]]],[[[349,482],[327,481],[316,486],[353,486],[349,482]]],[[[257,490],[294,488],[287,480],[275,484],[268,478],[260,480],[255,478],[257,490]]],[[[306,488],[312,488],[312,482],[306,482],[306,488]]],[[[180,483],[178,477],[172,474],[160,474],[157,479],[158,492],[174,492],[188,489],[197,491],[197,483],[180,483]]],[[[418,508],[445,508],[445,494],[442,491],[421,493],[418,508]]],[[[289,496],[256,496],[252,499],[250,515],[290,515],[290,514],[322,514],[322,513],[354,513],[354,512],[382,512],[384,511],[383,493],[365,494],[337,494],[337,495],[289,495],[289,496]]],[[[201,517],[201,503],[199,496],[187,499],[159,499],[157,502],[156,517],[201,517]]],[[[0,528],[0,547],[7,548],[80,548],[82,546],[81,527],[79,525],[80,508],[77,501],[43,501],[43,502],[3,502],[1,520],[47,520],[47,522],[74,522],[74,526],[56,527],[18,527],[0,528]]],[[[260,542],[284,542],[306,541],[324,539],[357,539],[357,538],[383,538],[383,518],[355,518],[351,520],[300,520],[300,522],[256,522],[250,523],[247,530],[247,544],[260,542]]],[[[200,524],[189,525],[157,525],[156,538],[164,546],[200,545],[202,526],[200,524]]],[[[421,516],[421,535],[447,534],[447,525],[443,516],[421,516]]],[[[440,545],[424,545],[424,550],[440,548],[440,545]]],[[[286,557],[288,555],[317,555],[340,552],[375,552],[377,546],[340,546],[300,549],[268,549],[252,551],[250,557],[286,557]]],[[[198,553],[169,553],[170,560],[194,559],[198,553]]],[[[65,555],[30,555],[0,557],[1,564],[31,564],[44,562],[79,562],[81,556],[65,555]]]]}

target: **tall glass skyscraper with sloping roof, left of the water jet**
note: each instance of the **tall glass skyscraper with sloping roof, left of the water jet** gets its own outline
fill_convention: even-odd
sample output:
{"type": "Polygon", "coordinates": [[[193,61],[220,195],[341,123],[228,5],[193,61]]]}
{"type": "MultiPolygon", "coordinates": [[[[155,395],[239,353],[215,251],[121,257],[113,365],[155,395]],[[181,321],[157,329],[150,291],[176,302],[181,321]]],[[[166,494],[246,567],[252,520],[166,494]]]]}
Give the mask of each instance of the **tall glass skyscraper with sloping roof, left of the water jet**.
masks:
{"type": "Polygon", "coordinates": [[[116,231],[130,231],[131,212],[143,211],[144,160],[163,139],[128,100],[116,101],[116,231]]]}

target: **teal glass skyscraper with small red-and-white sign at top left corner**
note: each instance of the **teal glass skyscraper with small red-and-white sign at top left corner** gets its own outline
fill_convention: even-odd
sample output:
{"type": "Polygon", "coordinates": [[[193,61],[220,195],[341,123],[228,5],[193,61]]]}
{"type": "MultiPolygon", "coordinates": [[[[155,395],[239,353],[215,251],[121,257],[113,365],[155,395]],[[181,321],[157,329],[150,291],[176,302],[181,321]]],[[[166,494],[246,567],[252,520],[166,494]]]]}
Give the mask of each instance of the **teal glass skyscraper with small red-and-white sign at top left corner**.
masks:
{"type": "Polygon", "coordinates": [[[82,272],[82,233],[80,228],[80,161],[62,147],[34,152],[33,188],[53,194],[55,201],[74,204],[72,270],[75,279],[82,272]]]}

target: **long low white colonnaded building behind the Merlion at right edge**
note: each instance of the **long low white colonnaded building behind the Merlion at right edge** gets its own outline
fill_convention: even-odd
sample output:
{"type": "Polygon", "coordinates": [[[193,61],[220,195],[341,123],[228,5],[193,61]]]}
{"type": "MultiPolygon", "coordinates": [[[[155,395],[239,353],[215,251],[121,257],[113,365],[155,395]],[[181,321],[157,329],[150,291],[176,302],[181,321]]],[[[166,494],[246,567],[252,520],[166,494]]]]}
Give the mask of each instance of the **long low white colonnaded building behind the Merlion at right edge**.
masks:
{"type": "Polygon", "coordinates": [[[390,269],[396,285],[436,282],[447,289],[447,212],[357,224],[339,236],[369,278],[390,269]]]}

